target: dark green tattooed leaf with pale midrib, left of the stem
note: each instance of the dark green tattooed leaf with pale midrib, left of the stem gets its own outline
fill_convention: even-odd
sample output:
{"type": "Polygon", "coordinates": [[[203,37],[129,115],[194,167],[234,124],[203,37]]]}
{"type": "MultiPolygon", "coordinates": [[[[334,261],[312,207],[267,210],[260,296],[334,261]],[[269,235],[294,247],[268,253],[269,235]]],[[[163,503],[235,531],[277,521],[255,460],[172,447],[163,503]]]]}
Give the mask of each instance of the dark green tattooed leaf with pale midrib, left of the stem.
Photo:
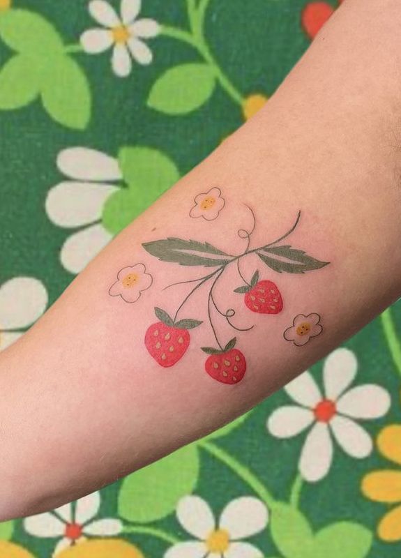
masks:
{"type": "Polygon", "coordinates": [[[156,240],[142,244],[146,252],[157,257],[162,262],[175,262],[181,266],[205,266],[218,267],[224,266],[231,261],[231,257],[225,252],[218,250],[207,242],[197,242],[194,240],[182,240],[168,238],[156,240]],[[194,254],[193,252],[199,252],[194,254]],[[206,255],[205,255],[206,254],[206,255]],[[207,255],[215,254],[226,256],[225,258],[211,258],[207,255]]]}

